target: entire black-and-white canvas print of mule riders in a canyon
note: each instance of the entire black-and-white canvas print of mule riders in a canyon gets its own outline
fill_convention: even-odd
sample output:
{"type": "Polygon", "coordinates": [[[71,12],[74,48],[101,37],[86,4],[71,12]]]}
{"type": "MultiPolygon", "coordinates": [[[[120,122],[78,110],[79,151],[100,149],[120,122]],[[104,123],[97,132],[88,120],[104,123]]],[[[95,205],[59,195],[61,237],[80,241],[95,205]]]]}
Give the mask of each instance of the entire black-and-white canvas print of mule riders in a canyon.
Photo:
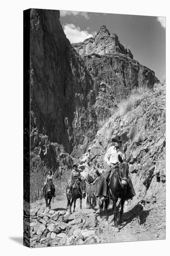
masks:
{"type": "Polygon", "coordinates": [[[166,18],[113,12],[23,12],[27,247],[166,239],[166,18]]]}

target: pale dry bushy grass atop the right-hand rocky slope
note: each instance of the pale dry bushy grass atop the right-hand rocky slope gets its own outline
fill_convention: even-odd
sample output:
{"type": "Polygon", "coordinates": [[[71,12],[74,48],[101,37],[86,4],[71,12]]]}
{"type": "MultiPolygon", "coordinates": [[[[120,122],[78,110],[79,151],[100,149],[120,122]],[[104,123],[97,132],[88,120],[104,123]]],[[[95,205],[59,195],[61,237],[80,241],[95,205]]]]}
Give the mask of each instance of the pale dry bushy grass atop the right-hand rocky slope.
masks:
{"type": "Polygon", "coordinates": [[[148,88],[136,88],[132,91],[129,98],[126,100],[120,101],[118,103],[118,116],[126,115],[127,112],[131,111],[135,105],[140,104],[140,101],[147,98],[149,96],[148,88]]]}

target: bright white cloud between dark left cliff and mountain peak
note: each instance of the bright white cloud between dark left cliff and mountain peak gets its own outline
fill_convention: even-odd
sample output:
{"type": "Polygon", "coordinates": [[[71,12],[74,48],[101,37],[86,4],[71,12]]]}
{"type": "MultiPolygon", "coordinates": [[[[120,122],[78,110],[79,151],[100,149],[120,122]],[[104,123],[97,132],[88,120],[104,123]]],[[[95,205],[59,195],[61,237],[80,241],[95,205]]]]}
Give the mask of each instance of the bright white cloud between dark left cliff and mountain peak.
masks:
{"type": "Polygon", "coordinates": [[[89,34],[87,30],[80,30],[79,27],[75,27],[74,24],[66,24],[64,27],[64,32],[66,37],[70,40],[71,43],[83,42],[89,37],[93,37],[92,34],[89,34]]]}

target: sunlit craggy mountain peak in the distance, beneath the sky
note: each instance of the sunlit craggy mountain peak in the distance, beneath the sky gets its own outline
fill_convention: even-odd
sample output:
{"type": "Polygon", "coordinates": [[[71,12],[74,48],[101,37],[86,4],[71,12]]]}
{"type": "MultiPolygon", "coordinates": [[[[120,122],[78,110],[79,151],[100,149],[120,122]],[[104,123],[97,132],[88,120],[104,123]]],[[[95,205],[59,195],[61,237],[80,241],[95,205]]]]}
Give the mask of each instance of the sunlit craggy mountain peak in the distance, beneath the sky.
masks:
{"type": "Polygon", "coordinates": [[[153,88],[159,82],[152,70],[133,60],[131,51],[119,42],[116,34],[110,34],[105,26],[100,28],[94,38],[72,45],[83,57],[94,81],[99,127],[132,89],[153,88]]]}

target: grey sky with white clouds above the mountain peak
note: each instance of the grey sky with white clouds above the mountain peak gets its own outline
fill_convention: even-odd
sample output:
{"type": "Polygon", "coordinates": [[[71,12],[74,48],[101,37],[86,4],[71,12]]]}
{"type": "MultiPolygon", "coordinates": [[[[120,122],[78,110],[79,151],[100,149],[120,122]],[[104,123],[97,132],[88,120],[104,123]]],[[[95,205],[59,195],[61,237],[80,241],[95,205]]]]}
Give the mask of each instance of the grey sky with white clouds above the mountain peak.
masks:
{"type": "Polygon", "coordinates": [[[94,37],[105,25],[135,60],[153,70],[160,81],[165,79],[164,17],[60,11],[60,23],[71,43],[94,37]]]}

